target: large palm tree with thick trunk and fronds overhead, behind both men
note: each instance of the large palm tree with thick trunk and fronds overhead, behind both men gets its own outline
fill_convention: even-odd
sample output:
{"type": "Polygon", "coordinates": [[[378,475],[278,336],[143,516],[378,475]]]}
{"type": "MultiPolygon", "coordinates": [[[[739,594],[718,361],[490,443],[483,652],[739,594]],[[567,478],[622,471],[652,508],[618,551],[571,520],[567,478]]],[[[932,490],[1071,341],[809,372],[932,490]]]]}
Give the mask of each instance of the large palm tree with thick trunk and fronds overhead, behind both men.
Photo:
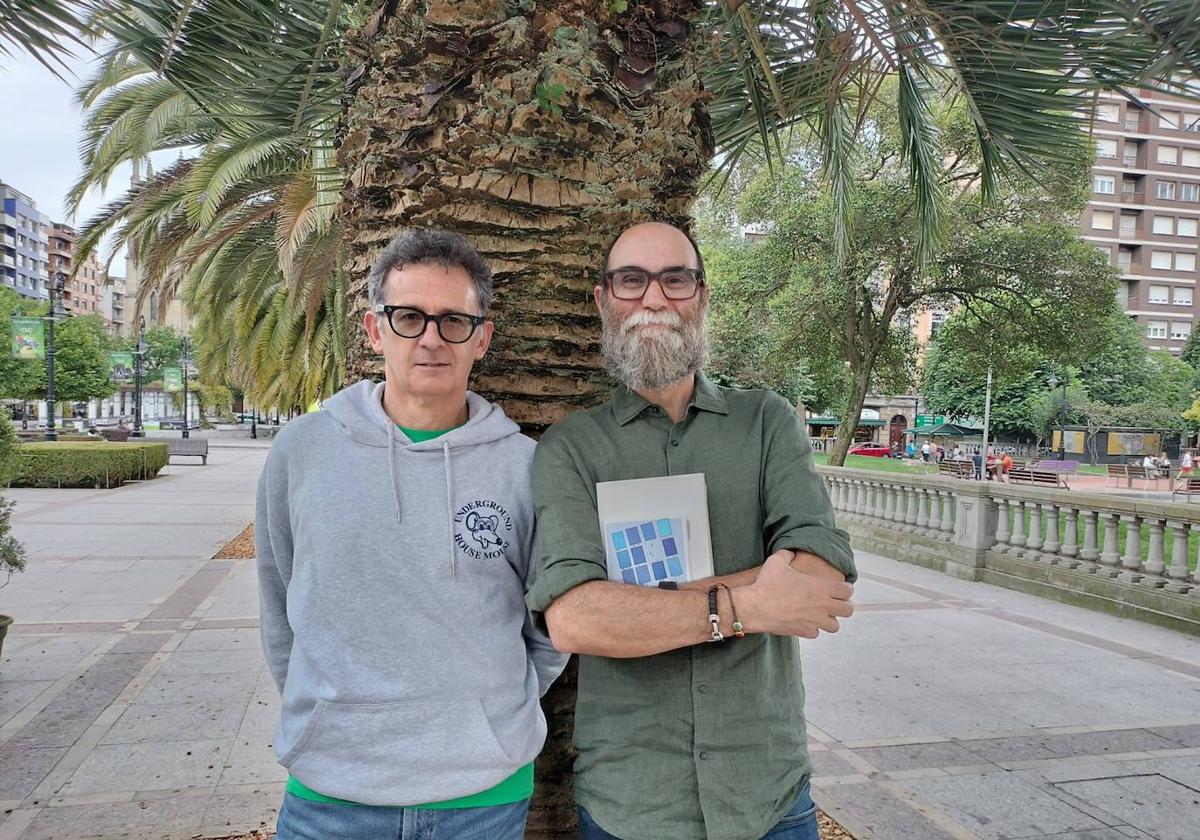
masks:
{"type": "MultiPolygon", "coordinates": [[[[222,130],[286,130],[325,152],[336,143],[352,323],[366,306],[371,253],[395,230],[442,224],[470,235],[496,268],[502,336],[476,388],[532,430],[604,396],[588,292],[607,239],[640,218],[685,222],[706,174],[721,178],[740,155],[769,160],[776,138],[811,131],[845,253],[854,133],[882,83],[898,78],[928,260],[944,202],[931,91],[965,103],[988,198],[1006,173],[1036,175],[1068,157],[1084,126],[1076,109],[1097,90],[1187,95],[1172,74],[1198,76],[1198,22],[1200,0],[104,8],[115,42],[222,130]]],[[[354,334],[348,378],[376,372],[354,334]]],[[[547,704],[557,740],[541,758],[544,782],[566,775],[570,686],[547,704]]],[[[566,835],[569,796],[545,784],[540,796],[532,834],[566,835]]]]}

